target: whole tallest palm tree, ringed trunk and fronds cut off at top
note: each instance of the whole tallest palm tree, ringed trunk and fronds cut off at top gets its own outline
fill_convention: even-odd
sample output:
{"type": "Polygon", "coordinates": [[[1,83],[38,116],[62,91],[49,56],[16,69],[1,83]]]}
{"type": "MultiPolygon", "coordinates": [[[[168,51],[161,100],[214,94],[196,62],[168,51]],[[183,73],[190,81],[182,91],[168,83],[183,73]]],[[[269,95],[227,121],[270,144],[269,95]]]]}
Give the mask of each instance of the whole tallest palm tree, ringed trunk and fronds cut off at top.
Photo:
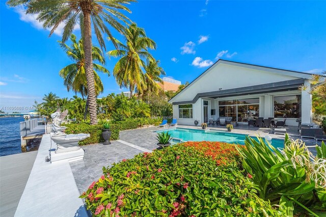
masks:
{"type": "MultiPolygon", "coordinates": [[[[124,26],[120,21],[126,23],[130,20],[120,11],[130,12],[125,6],[130,2],[135,2],[135,0],[9,0],[7,2],[10,7],[20,5],[26,7],[26,14],[37,14],[37,20],[43,22],[43,27],[51,28],[50,35],[61,23],[64,23],[63,42],[69,38],[79,20],[85,51],[85,73],[91,124],[97,123],[92,59],[92,29],[100,46],[105,49],[103,34],[113,39],[111,31],[105,23],[123,33],[124,26]]],[[[113,43],[115,42],[113,41],[113,43]]],[[[117,45],[115,44],[115,46],[117,45]]]]}

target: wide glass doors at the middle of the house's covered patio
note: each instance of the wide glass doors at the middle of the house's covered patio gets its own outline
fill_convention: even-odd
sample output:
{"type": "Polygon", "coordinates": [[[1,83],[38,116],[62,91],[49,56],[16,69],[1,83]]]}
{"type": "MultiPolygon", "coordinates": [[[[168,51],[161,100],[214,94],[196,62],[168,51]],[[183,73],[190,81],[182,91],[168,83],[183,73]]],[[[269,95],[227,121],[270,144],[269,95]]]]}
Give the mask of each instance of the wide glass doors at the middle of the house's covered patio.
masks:
{"type": "Polygon", "coordinates": [[[219,101],[219,115],[232,121],[248,122],[259,117],[259,98],[219,101]]]}

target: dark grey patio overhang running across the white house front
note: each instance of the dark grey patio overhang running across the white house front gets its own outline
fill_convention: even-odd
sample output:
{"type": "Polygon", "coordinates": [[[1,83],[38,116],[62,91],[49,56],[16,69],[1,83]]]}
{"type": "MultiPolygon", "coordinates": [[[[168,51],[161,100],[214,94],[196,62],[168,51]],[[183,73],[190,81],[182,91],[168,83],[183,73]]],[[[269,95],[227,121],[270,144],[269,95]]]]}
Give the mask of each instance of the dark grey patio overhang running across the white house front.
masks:
{"type": "Polygon", "coordinates": [[[283,82],[274,82],[262,85],[254,85],[242,88],[233,88],[228,90],[218,90],[212,92],[198,93],[193,100],[173,102],[172,104],[189,104],[195,103],[199,98],[222,98],[227,96],[239,96],[239,95],[250,95],[250,94],[262,94],[262,93],[273,93],[279,91],[290,91],[297,90],[298,87],[305,83],[304,78],[298,78],[293,80],[284,80],[283,82]]]}

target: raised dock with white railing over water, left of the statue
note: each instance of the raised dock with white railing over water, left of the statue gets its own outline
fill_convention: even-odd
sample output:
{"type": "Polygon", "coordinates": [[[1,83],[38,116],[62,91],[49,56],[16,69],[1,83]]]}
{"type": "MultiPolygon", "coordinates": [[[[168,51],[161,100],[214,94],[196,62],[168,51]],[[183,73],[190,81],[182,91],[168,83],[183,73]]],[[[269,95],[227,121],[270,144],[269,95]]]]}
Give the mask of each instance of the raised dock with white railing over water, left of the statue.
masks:
{"type": "Polygon", "coordinates": [[[23,152],[26,151],[26,145],[30,143],[30,140],[42,138],[43,134],[45,134],[45,126],[42,125],[42,122],[38,118],[19,123],[21,150],[23,152]]]}

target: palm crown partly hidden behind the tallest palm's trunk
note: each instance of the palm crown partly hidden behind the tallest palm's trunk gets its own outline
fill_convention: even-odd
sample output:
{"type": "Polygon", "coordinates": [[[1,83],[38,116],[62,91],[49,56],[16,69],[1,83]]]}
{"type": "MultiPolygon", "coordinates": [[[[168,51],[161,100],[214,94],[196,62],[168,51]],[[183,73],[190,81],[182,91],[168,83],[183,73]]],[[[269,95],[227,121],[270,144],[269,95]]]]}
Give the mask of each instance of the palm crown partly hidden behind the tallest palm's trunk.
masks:
{"type": "MultiPolygon", "coordinates": [[[[59,75],[64,78],[64,85],[67,90],[72,89],[74,92],[82,94],[82,97],[87,94],[87,80],[85,74],[85,53],[83,48],[83,40],[77,42],[76,36],[70,36],[71,45],[68,46],[62,41],[59,41],[60,46],[65,50],[66,55],[74,62],[60,70],[59,75]]],[[[100,64],[105,64],[103,52],[99,47],[93,46],[93,61],[97,61],[100,64]]],[[[93,73],[94,73],[94,85],[95,94],[98,96],[103,92],[103,84],[96,73],[96,71],[106,73],[110,76],[110,72],[103,66],[93,62],[93,73]]]]}

